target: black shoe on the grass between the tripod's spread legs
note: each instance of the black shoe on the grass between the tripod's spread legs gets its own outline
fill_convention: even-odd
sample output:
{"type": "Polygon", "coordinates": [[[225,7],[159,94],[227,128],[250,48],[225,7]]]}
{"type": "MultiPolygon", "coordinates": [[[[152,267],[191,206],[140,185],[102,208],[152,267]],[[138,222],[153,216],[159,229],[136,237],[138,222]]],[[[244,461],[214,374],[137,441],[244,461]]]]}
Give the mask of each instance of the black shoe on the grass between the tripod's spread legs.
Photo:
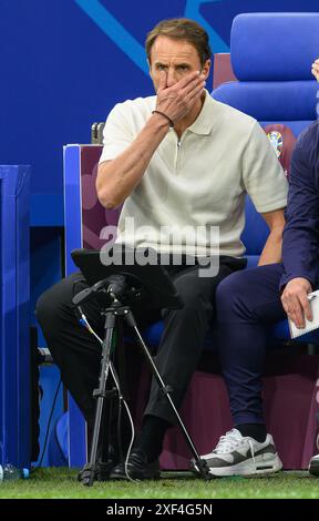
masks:
{"type": "MultiPolygon", "coordinates": [[[[158,460],[147,462],[147,456],[140,449],[133,449],[126,466],[127,474],[131,479],[158,479],[158,460]]],[[[110,473],[110,479],[128,480],[125,472],[125,463],[120,463],[110,473]]]]}

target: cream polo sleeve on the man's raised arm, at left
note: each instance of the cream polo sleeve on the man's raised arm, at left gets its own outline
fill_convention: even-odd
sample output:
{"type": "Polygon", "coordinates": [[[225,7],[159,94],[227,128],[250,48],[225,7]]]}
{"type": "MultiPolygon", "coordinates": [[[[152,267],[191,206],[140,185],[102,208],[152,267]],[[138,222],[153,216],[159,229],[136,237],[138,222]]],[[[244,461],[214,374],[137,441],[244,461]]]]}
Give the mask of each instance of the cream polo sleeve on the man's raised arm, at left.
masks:
{"type": "Polygon", "coordinates": [[[134,141],[130,111],[124,103],[119,103],[110,112],[103,130],[103,151],[100,163],[114,160],[134,141]]]}

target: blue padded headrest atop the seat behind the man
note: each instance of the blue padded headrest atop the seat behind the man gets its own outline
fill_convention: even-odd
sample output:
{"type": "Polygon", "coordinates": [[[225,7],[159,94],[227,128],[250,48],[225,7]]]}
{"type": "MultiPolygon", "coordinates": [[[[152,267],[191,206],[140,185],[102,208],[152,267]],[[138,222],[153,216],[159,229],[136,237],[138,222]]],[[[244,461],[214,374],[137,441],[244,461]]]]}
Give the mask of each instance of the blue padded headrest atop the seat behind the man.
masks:
{"type": "Polygon", "coordinates": [[[234,19],[230,57],[238,80],[310,80],[319,13],[245,13],[234,19]]]}

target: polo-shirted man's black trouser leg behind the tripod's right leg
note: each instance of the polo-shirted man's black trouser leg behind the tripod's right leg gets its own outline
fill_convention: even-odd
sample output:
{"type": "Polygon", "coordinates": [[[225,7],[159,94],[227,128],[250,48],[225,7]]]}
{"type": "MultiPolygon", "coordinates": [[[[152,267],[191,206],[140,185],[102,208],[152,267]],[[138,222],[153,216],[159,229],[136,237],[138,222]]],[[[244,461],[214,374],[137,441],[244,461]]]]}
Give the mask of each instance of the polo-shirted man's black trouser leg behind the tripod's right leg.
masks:
{"type": "MultiPolygon", "coordinates": [[[[238,267],[237,267],[238,268],[238,267]]],[[[215,277],[199,277],[200,267],[191,266],[173,277],[184,302],[183,309],[164,311],[164,331],[155,362],[165,385],[173,388],[172,398],[182,405],[191,378],[196,369],[204,340],[214,316],[217,285],[235,266],[222,264],[215,277]]],[[[163,418],[175,423],[175,416],[162,396],[157,382],[152,381],[151,397],[145,416],[163,418]]]]}

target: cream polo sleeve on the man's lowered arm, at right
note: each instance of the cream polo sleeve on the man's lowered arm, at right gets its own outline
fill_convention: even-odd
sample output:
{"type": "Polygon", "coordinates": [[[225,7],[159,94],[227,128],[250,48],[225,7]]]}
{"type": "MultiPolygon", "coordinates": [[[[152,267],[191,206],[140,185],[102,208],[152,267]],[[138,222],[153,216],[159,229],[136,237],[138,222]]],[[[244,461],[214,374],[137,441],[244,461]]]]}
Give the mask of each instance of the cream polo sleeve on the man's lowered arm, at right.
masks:
{"type": "Polygon", "coordinates": [[[255,122],[243,160],[245,188],[257,212],[285,208],[288,182],[267,135],[255,122]]]}

